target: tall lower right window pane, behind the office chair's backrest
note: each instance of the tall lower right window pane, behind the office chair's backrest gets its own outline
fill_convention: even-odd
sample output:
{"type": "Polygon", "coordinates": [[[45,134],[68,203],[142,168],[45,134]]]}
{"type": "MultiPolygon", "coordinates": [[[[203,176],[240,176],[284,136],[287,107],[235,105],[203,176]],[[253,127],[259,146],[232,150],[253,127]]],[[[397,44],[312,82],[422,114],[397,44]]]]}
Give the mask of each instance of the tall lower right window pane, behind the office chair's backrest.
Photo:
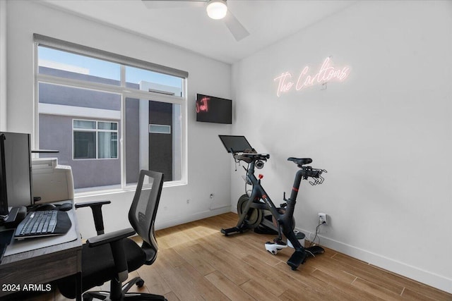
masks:
{"type": "Polygon", "coordinates": [[[126,98],[126,183],[134,184],[141,169],[165,174],[165,181],[182,179],[182,106],[148,99],[126,98]],[[171,128],[150,133],[149,125],[171,128]]]}

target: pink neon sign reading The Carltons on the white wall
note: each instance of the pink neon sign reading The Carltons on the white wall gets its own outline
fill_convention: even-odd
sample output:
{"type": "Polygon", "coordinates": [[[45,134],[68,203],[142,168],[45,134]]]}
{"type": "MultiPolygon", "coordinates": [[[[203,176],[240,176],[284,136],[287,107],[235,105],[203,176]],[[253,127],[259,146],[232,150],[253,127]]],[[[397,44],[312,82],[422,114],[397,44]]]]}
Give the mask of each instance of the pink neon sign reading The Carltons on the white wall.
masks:
{"type": "Polygon", "coordinates": [[[283,72],[280,76],[273,79],[273,81],[278,82],[278,91],[276,92],[278,97],[294,88],[295,90],[300,91],[306,87],[311,87],[316,83],[325,84],[326,82],[333,80],[342,82],[350,75],[350,67],[345,66],[342,69],[335,68],[334,66],[331,66],[331,60],[328,57],[323,61],[319,72],[314,75],[309,75],[308,73],[309,66],[305,66],[299,74],[297,81],[295,81],[295,77],[292,76],[292,73],[290,72],[283,72]]]}

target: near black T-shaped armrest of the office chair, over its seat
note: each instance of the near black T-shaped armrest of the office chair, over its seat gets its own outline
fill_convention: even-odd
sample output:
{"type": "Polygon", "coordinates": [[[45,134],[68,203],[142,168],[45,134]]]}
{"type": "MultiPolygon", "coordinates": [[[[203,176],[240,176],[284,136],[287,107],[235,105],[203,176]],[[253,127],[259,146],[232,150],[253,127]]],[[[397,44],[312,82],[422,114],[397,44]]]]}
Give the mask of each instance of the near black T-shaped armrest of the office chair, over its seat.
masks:
{"type": "Polygon", "coordinates": [[[135,234],[135,230],[133,230],[133,228],[127,228],[111,233],[97,235],[86,241],[88,247],[97,247],[107,243],[110,245],[113,255],[114,269],[117,274],[117,277],[115,278],[119,282],[126,281],[129,273],[127,268],[126,253],[124,251],[124,238],[128,238],[133,234],[135,234]]]}

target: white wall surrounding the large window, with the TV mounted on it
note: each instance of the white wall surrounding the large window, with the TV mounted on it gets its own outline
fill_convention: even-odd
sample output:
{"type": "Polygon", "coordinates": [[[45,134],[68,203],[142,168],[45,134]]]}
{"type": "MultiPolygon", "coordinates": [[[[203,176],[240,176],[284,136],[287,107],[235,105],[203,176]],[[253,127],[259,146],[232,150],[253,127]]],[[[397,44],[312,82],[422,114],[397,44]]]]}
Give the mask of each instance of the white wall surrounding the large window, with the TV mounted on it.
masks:
{"type": "MultiPolygon", "coordinates": [[[[188,80],[188,185],[164,188],[156,228],[230,211],[230,157],[218,156],[224,149],[219,133],[229,134],[231,125],[196,123],[196,93],[230,97],[231,66],[184,49],[132,35],[129,32],[72,16],[35,1],[8,1],[8,128],[28,132],[33,127],[33,33],[94,47],[105,51],[186,70],[188,80]],[[214,194],[213,200],[210,193],[214,194]],[[187,204],[186,200],[190,202],[187,204]]],[[[224,152],[225,153],[225,152],[224,152]]],[[[105,207],[105,228],[129,227],[126,212],[133,192],[77,198],[111,199],[105,207]]],[[[89,209],[78,210],[85,238],[95,235],[89,209]]]]}

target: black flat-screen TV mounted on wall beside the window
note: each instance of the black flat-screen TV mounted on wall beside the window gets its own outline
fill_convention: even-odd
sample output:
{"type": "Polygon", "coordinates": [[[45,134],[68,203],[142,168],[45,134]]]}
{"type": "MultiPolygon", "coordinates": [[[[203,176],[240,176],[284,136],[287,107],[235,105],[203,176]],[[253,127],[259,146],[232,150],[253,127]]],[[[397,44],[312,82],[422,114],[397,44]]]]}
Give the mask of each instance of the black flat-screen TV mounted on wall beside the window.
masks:
{"type": "Polygon", "coordinates": [[[196,121],[232,124],[232,100],[196,94],[196,121]]]}

